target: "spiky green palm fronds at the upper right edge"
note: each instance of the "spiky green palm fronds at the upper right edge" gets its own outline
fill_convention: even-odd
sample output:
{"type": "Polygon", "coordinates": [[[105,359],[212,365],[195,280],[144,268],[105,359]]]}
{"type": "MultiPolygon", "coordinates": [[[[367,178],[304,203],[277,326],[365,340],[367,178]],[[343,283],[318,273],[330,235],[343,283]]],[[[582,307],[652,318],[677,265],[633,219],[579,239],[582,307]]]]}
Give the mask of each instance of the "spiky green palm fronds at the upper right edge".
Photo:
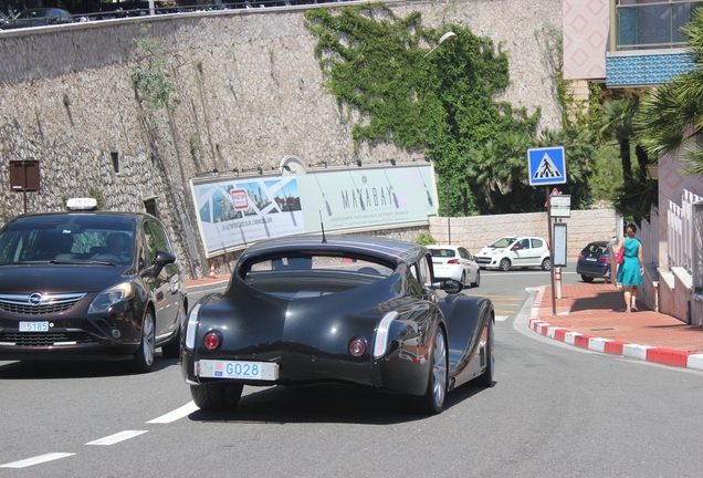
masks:
{"type": "Polygon", "coordinates": [[[675,76],[646,97],[634,116],[640,143],[652,156],[682,148],[684,174],[703,175],[703,8],[681,29],[694,67],[675,76]]]}

